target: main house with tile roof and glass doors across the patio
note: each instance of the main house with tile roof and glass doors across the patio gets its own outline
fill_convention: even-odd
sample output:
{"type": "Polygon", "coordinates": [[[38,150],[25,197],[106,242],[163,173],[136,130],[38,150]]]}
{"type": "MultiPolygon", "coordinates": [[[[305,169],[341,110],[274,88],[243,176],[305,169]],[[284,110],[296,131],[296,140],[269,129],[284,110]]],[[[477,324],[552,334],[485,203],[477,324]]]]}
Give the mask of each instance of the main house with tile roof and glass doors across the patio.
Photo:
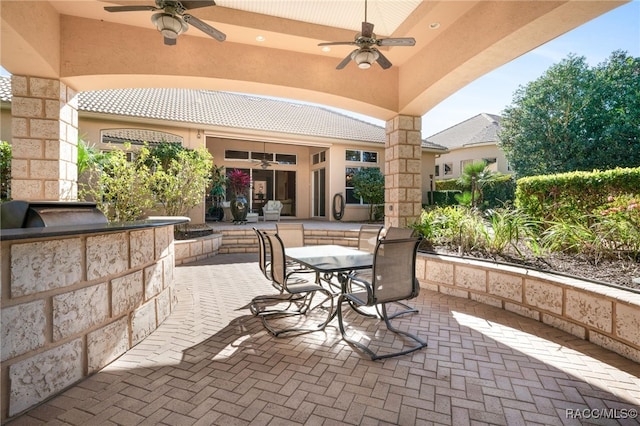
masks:
{"type": "MultiPolygon", "coordinates": [[[[11,80],[0,78],[3,126],[10,111],[11,80]]],[[[350,176],[362,167],[384,173],[384,127],[321,106],[245,94],[191,89],[117,89],[78,95],[79,137],[100,150],[124,142],[174,142],[206,146],[214,163],[250,173],[250,207],[267,200],[284,204],[282,215],[333,220],[335,194],[346,207],[342,220],[366,220],[368,206],[353,195],[350,176]],[[271,164],[266,165],[261,160],[271,164]]],[[[3,140],[11,130],[2,128],[3,140]]],[[[443,146],[423,141],[423,200],[435,158],[443,146]]],[[[194,223],[205,205],[192,210],[194,223]]]]}

